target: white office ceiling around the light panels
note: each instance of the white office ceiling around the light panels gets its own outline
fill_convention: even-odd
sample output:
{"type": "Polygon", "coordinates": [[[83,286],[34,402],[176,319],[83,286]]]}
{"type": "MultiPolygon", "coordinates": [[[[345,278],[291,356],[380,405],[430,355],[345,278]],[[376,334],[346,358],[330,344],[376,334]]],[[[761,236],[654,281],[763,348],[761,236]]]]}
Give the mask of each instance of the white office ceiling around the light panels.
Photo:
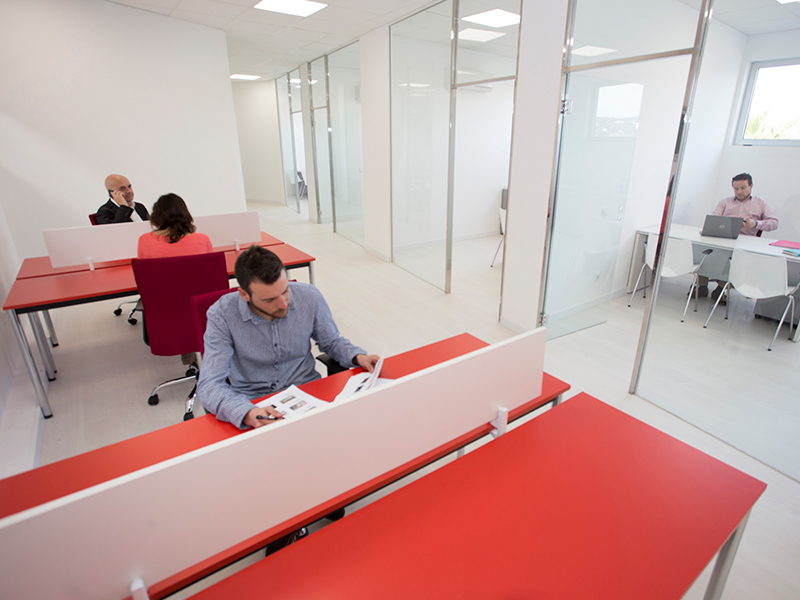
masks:
{"type": "MultiPolygon", "coordinates": [[[[434,3],[434,0],[323,0],[327,8],[303,18],[256,10],[253,6],[258,0],[110,1],[221,29],[228,41],[231,73],[261,75],[264,79],[283,75],[307,60],[434,3]]],[[[693,8],[701,4],[701,0],[679,1],[693,8]]],[[[713,15],[747,35],[800,30],[800,2],[715,0],[713,15]]]]}

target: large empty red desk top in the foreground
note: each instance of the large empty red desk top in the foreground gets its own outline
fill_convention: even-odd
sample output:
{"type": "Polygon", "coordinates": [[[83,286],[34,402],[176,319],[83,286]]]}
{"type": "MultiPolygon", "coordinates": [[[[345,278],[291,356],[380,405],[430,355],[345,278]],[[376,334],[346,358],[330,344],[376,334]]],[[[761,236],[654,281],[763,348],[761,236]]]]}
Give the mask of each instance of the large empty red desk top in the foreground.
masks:
{"type": "Polygon", "coordinates": [[[580,394],[193,598],[677,600],[765,488],[580,394]]]}

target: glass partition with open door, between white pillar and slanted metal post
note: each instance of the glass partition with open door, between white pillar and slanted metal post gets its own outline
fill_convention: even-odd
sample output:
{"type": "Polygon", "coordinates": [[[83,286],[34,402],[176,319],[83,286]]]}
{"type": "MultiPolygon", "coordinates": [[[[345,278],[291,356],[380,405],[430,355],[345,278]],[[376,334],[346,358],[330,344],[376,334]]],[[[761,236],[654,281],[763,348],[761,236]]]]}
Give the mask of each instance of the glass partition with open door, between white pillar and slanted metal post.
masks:
{"type": "Polygon", "coordinates": [[[541,306],[550,339],[606,321],[622,240],[634,220],[660,221],[698,24],[675,0],[571,9],[541,306]]]}

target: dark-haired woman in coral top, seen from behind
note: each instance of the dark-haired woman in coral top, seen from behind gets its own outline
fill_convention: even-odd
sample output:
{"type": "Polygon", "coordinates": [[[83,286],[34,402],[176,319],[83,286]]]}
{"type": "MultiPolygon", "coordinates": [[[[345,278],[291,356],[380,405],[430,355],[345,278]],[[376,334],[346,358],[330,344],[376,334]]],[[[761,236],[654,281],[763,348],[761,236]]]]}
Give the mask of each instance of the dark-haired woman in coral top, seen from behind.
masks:
{"type": "Polygon", "coordinates": [[[162,258],[211,252],[211,240],[195,233],[194,219],[178,194],[164,194],[153,205],[150,223],[154,231],[139,238],[139,258],[162,258]]]}

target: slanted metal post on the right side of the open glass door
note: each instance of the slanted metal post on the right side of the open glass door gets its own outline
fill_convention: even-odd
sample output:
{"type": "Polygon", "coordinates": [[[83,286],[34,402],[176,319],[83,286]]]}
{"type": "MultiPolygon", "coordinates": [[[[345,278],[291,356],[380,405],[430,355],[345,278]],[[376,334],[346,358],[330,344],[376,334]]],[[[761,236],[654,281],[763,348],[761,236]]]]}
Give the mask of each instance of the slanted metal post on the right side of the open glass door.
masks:
{"type": "Polygon", "coordinates": [[[686,82],[686,92],[683,98],[683,110],[681,111],[681,122],[678,127],[678,136],[675,141],[675,152],[672,159],[672,170],[667,188],[667,198],[664,206],[664,216],[661,219],[661,232],[659,234],[658,248],[653,272],[651,274],[650,298],[647,299],[647,306],[642,319],[642,328],[639,333],[639,345],[636,348],[636,359],[633,364],[631,383],[628,388],[629,394],[635,394],[639,388],[639,378],[642,374],[642,361],[647,349],[647,338],[650,333],[650,323],[653,320],[653,309],[655,300],[658,297],[658,288],[661,280],[661,266],[664,252],[666,251],[666,241],[669,238],[669,227],[672,224],[672,213],[675,208],[675,190],[678,189],[680,181],[681,163],[686,151],[686,136],[689,133],[689,122],[691,121],[692,104],[694,95],[697,91],[697,80],[700,76],[700,62],[703,58],[706,38],[708,37],[708,25],[711,20],[711,5],[713,0],[703,0],[700,7],[700,18],[697,22],[697,33],[694,39],[694,50],[692,51],[692,62],[689,65],[689,76],[686,82]]]}

